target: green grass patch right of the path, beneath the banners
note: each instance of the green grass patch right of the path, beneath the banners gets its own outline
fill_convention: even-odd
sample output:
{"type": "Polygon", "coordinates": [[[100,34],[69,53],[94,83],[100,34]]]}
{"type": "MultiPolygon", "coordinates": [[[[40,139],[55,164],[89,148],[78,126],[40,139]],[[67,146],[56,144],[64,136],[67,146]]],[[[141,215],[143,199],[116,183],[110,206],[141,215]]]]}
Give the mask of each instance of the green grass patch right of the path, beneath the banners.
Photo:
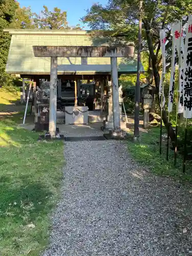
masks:
{"type": "MultiPolygon", "coordinates": [[[[163,131],[166,134],[166,131],[163,131]]],[[[186,173],[182,173],[183,158],[178,154],[177,166],[174,167],[174,151],[169,150],[169,160],[166,161],[166,142],[162,143],[162,155],[159,154],[160,128],[154,127],[148,133],[142,133],[140,143],[129,141],[128,148],[133,159],[147,166],[153,173],[163,176],[173,176],[179,180],[192,181],[192,165],[187,163],[186,173]]]]}

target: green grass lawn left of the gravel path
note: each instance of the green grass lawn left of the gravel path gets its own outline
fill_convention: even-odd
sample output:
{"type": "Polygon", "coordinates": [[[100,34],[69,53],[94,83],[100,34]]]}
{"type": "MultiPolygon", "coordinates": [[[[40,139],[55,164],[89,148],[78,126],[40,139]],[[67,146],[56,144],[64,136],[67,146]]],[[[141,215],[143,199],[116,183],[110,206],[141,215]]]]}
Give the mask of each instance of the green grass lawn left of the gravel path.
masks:
{"type": "Polygon", "coordinates": [[[49,214],[62,179],[63,143],[37,142],[37,136],[11,119],[0,121],[1,256],[36,256],[48,243],[49,214]]]}

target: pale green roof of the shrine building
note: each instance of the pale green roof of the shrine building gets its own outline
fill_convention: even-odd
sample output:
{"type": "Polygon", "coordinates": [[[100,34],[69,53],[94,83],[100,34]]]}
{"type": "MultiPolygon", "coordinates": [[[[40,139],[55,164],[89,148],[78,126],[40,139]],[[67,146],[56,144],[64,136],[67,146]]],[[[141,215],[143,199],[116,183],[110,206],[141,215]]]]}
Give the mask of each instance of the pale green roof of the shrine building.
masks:
{"type": "MultiPolygon", "coordinates": [[[[113,46],[134,45],[132,42],[112,38],[101,32],[85,30],[29,30],[5,29],[11,34],[11,44],[6,65],[9,74],[50,74],[50,58],[35,57],[33,46],[113,46]]],[[[117,58],[118,72],[137,72],[137,54],[134,57],[117,58]]],[[[140,64],[140,71],[143,66],[140,64]]],[[[58,57],[58,74],[106,74],[111,72],[110,57],[88,57],[87,65],[81,65],[80,57],[58,57]]]]}

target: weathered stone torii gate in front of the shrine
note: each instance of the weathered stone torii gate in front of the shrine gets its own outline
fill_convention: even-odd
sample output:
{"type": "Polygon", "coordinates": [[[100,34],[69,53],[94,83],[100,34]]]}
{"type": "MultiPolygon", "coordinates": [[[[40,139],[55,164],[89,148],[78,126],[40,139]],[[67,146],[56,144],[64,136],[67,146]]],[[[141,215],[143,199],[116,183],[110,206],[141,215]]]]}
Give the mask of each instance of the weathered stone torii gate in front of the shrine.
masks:
{"type": "Polygon", "coordinates": [[[51,137],[56,133],[56,111],[57,111],[57,57],[110,57],[111,77],[113,95],[113,123],[114,131],[121,132],[119,113],[119,88],[117,57],[133,57],[135,47],[133,45],[122,45],[113,47],[95,46],[33,46],[35,57],[51,57],[50,72],[50,112],[49,132],[51,137]]]}

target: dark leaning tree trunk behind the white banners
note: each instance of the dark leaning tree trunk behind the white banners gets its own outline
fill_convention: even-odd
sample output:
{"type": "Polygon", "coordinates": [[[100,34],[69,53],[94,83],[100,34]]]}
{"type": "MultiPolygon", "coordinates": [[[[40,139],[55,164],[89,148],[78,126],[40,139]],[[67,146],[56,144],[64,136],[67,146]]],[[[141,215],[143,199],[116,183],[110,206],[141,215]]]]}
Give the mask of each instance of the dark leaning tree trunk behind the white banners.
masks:
{"type": "MultiPolygon", "coordinates": [[[[157,56],[154,53],[152,36],[151,36],[151,33],[150,33],[150,26],[147,23],[145,23],[145,21],[143,21],[143,23],[144,23],[145,33],[146,33],[148,50],[150,52],[150,58],[152,60],[152,69],[153,69],[154,80],[155,80],[156,94],[158,96],[157,98],[158,98],[158,102],[159,102],[159,105],[160,105],[160,101],[159,101],[160,76],[159,76],[159,72],[158,72],[157,56]]],[[[166,111],[165,111],[164,108],[162,110],[162,120],[163,120],[163,123],[164,123],[167,131],[169,130],[170,139],[174,142],[175,138],[176,138],[175,137],[175,131],[174,131],[173,127],[168,123],[167,114],[166,114],[166,111]]]]}

